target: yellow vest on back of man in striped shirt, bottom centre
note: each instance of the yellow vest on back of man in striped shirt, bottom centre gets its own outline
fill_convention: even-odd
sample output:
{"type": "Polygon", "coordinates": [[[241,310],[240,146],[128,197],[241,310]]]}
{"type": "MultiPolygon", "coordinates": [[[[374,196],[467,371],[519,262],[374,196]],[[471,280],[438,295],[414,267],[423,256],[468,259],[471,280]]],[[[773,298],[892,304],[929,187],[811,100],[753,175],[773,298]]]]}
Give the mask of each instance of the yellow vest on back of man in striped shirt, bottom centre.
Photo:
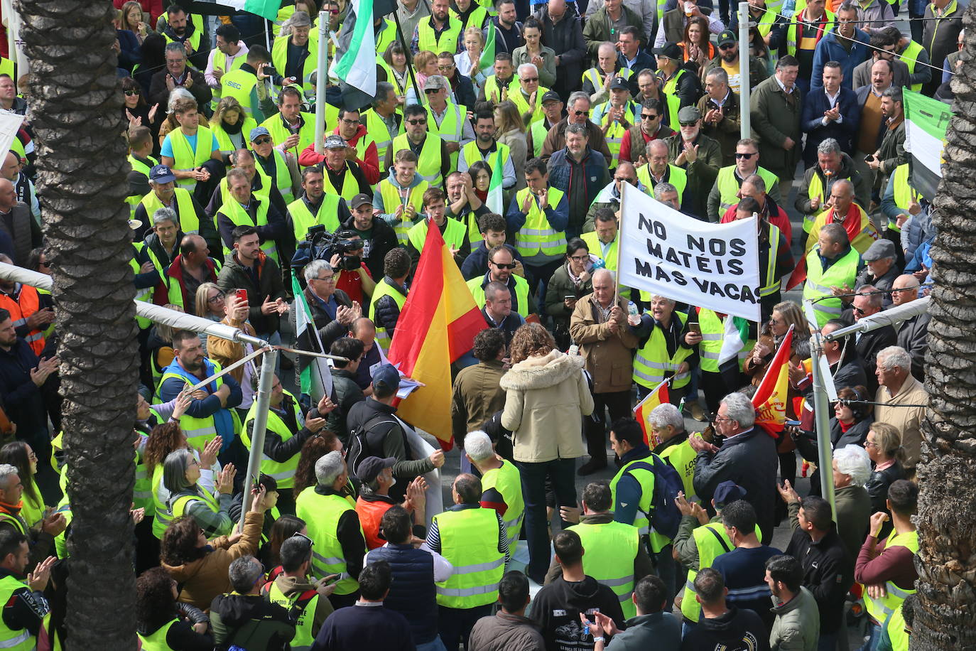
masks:
{"type": "Polygon", "coordinates": [[[498,550],[495,509],[445,510],[433,516],[440,534],[440,553],[454,572],[437,587],[437,603],[448,608],[474,608],[498,599],[505,573],[505,554],[498,550]]]}

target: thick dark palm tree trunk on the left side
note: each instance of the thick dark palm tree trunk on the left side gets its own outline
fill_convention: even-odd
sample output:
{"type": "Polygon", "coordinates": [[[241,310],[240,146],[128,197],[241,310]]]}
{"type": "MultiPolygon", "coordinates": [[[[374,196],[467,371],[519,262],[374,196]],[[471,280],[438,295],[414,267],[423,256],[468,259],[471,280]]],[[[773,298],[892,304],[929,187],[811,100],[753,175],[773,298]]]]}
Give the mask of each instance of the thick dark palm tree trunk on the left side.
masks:
{"type": "MultiPolygon", "coordinates": [[[[122,96],[108,0],[20,0],[38,196],[54,276],[67,492],[69,649],[136,648],[139,383],[122,96]]],[[[13,47],[13,44],[12,44],[13,47]]]]}

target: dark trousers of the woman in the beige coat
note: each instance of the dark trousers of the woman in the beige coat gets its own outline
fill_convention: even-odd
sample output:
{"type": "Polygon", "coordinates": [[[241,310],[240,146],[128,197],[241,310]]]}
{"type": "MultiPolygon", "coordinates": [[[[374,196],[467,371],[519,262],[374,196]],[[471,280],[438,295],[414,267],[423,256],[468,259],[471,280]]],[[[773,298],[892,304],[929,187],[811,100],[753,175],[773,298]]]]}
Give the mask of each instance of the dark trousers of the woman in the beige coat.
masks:
{"type": "MultiPolygon", "coordinates": [[[[525,502],[525,538],[529,544],[529,564],[525,574],[540,585],[549,569],[549,526],[546,517],[546,477],[552,480],[556,508],[576,506],[575,459],[528,464],[515,462],[522,477],[525,502]]],[[[562,528],[569,523],[563,520],[562,528]]]]}

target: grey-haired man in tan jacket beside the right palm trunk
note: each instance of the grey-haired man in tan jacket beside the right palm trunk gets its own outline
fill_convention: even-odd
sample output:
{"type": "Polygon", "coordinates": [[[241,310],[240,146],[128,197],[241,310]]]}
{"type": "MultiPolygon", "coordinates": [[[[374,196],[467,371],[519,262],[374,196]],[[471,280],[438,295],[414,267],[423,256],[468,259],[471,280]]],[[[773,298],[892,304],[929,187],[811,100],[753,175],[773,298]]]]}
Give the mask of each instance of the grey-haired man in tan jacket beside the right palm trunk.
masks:
{"type": "Polygon", "coordinates": [[[905,448],[905,468],[915,468],[921,458],[921,421],[925,418],[928,392],[912,376],[912,355],[901,346],[888,346],[877,353],[877,393],[874,394],[874,422],[898,429],[905,448]]]}

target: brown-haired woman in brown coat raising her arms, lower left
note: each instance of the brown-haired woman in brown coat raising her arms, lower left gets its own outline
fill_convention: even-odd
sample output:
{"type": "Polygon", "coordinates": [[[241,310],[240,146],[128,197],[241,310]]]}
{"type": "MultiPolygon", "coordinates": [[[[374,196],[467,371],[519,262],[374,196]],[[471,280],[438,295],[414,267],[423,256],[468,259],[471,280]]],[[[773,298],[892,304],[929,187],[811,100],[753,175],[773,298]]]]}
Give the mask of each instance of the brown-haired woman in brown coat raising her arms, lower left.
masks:
{"type": "Polygon", "coordinates": [[[244,529],[208,542],[203,529],[188,515],[175,518],[166,528],[159,559],[181,586],[178,599],[197,608],[210,608],[218,594],[230,591],[227,569],[231,561],[255,555],[264,525],[264,488],[252,490],[251,509],[244,529]]]}

